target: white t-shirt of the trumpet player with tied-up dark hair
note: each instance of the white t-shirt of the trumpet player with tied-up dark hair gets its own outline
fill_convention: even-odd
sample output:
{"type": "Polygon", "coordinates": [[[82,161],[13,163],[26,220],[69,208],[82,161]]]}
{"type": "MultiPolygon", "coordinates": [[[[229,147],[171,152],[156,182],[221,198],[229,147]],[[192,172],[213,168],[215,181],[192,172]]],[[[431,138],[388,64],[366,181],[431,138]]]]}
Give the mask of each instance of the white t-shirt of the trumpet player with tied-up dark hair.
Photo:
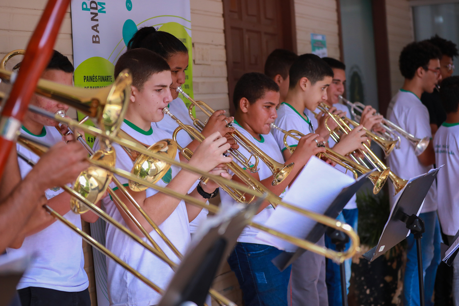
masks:
{"type": "MultiPolygon", "coordinates": [[[[188,108],[185,105],[184,101],[180,98],[177,97],[171,101],[168,105],[169,111],[177,117],[180,121],[182,121],[184,124],[193,125],[193,120],[191,120],[190,116],[188,115],[188,108]]],[[[164,115],[163,120],[159,122],[154,122],[152,123],[153,126],[159,127],[159,129],[166,131],[170,135],[175,131],[177,127],[179,127],[179,124],[175,122],[171,117],[168,115],[164,115]]],[[[180,131],[177,134],[177,142],[184,148],[186,147],[191,141],[193,141],[193,138],[185,131],[180,131]]],[[[196,182],[194,187],[199,183],[199,181],[196,182]]],[[[194,189],[194,188],[193,188],[194,189]]],[[[196,218],[194,218],[193,221],[190,222],[190,232],[195,233],[197,230],[197,227],[199,224],[207,219],[207,215],[209,214],[209,211],[207,209],[201,210],[199,215],[197,215],[196,218]]]]}

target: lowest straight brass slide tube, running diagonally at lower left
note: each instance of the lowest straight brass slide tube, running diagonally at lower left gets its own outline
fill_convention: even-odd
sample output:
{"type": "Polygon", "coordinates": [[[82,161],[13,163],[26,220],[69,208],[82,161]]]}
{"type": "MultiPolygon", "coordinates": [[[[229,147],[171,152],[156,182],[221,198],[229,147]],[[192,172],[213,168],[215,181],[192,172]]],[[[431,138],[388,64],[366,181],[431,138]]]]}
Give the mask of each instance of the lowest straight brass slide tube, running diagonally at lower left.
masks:
{"type": "Polygon", "coordinates": [[[163,294],[164,291],[163,289],[159,288],[156,284],[152,283],[148,278],[140,274],[138,271],[136,271],[133,267],[130,265],[126,264],[123,262],[119,257],[117,257],[114,253],[112,253],[109,249],[107,249],[105,246],[101,245],[98,241],[96,241],[94,238],[80,230],[77,226],[69,222],[67,219],[65,219],[63,216],[58,214],[55,210],[50,208],[47,205],[44,205],[44,208],[49,212],[50,215],[58,219],[59,221],[63,222],[66,224],[68,227],[70,227],[74,232],[76,232],[78,235],[80,235],[86,242],[88,242],[90,245],[98,249],[101,253],[103,253],[105,256],[108,258],[114,260],[118,265],[122,266],[124,269],[127,271],[131,272],[134,276],[139,278],[142,282],[144,282],[148,287],[151,289],[155,290],[156,292],[163,294]]]}

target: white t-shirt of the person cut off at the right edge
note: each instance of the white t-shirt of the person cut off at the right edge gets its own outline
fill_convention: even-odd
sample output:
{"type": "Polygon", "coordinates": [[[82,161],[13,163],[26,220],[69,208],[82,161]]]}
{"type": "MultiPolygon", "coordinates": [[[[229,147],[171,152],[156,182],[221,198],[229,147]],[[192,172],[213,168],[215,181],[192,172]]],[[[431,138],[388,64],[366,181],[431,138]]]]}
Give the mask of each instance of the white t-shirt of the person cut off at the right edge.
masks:
{"type": "Polygon", "coordinates": [[[436,165],[444,165],[437,175],[438,217],[443,233],[454,236],[459,230],[459,123],[444,122],[435,133],[433,148],[436,165]]]}

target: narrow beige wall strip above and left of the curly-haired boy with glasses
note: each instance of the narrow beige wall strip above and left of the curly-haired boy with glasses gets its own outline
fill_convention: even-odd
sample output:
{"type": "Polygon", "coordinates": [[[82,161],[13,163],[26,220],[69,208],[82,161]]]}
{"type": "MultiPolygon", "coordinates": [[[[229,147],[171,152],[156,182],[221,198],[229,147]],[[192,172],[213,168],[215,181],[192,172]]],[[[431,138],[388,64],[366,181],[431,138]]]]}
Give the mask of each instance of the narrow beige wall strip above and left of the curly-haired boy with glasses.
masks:
{"type": "Polygon", "coordinates": [[[414,41],[413,17],[407,0],[386,0],[387,34],[391,69],[391,91],[395,95],[403,85],[398,58],[403,47],[414,41]]]}

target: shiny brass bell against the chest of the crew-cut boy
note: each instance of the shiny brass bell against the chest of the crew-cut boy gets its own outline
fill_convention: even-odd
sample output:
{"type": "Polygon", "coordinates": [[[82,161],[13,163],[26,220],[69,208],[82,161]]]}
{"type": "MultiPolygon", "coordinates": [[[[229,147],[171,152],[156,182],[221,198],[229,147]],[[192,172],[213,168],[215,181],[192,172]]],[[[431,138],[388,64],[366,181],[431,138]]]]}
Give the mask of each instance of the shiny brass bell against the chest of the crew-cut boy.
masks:
{"type": "MultiPolygon", "coordinates": [[[[177,154],[177,144],[172,139],[163,139],[149,146],[148,150],[158,153],[161,156],[174,159],[177,154]]],[[[131,173],[141,180],[155,184],[161,180],[164,175],[166,175],[169,169],[170,164],[142,154],[134,163],[131,173]]],[[[137,192],[148,189],[147,186],[131,180],[129,180],[129,188],[131,188],[132,191],[137,192]]]]}

